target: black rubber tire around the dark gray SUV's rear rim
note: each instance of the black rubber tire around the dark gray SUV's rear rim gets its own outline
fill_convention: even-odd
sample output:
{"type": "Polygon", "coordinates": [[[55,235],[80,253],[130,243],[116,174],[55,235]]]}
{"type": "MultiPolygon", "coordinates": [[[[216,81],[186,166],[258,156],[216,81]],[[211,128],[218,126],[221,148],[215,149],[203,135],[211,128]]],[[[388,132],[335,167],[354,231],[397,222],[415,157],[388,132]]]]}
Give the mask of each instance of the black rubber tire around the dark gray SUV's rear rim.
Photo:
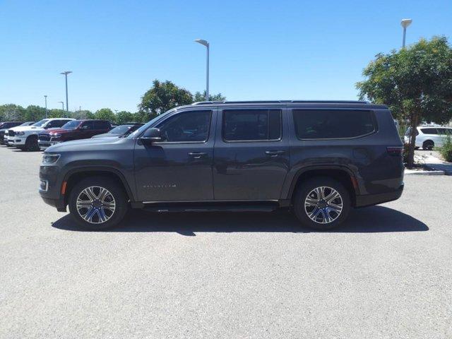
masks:
{"type": "MultiPolygon", "coordinates": [[[[345,189],[343,184],[340,184],[340,182],[336,181],[335,179],[331,179],[329,177],[315,177],[312,179],[309,179],[307,182],[302,183],[297,191],[295,192],[295,198],[294,198],[294,211],[295,215],[297,216],[299,222],[302,223],[302,225],[307,226],[309,228],[313,228],[314,230],[331,230],[335,227],[338,227],[342,222],[344,222],[345,219],[347,219],[348,213],[350,212],[350,193],[345,189]],[[305,201],[308,198],[308,194],[311,194],[311,198],[315,197],[315,200],[317,200],[317,196],[312,195],[312,191],[319,187],[326,187],[324,193],[328,196],[329,194],[333,193],[331,189],[334,189],[339,195],[340,199],[342,200],[342,210],[340,210],[340,213],[335,212],[334,210],[326,210],[328,205],[326,204],[326,201],[323,201],[323,197],[321,197],[321,204],[322,208],[320,213],[317,213],[318,216],[316,218],[317,221],[311,220],[309,218],[308,212],[314,212],[314,210],[317,207],[314,206],[308,206],[305,208],[304,204],[305,201]],[[325,206],[323,208],[323,206],[325,206]],[[309,210],[309,208],[312,208],[312,210],[309,210]],[[324,217],[324,213],[328,214],[327,218],[331,218],[332,221],[328,222],[328,220],[322,220],[324,217]],[[326,221],[325,223],[321,223],[322,221],[326,221]]],[[[339,200],[333,200],[331,203],[338,203],[339,200]]],[[[338,204],[337,204],[338,205],[338,204]]],[[[313,216],[314,218],[314,216],[313,216]]]]}

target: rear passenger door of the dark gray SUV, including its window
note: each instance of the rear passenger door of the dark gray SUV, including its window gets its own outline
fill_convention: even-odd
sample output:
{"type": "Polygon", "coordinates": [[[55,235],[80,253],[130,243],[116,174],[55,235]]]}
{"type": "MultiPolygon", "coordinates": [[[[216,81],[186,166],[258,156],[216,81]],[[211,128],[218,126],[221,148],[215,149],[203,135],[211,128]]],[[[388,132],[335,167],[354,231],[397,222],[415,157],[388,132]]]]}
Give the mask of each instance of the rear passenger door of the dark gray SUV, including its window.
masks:
{"type": "Polygon", "coordinates": [[[290,148],[287,133],[284,133],[287,131],[287,114],[283,108],[278,110],[282,127],[279,134],[282,135],[277,136],[280,140],[274,141],[257,140],[273,138],[277,134],[270,128],[278,124],[274,116],[271,117],[272,114],[266,120],[258,112],[251,112],[256,119],[249,118],[249,112],[236,112],[237,117],[229,119],[227,114],[231,112],[227,112],[227,109],[218,112],[213,166],[215,200],[258,201],[280,198],[290,166],[290,148]],[[253,140],[243,140],[246,138],[253,140]]]}

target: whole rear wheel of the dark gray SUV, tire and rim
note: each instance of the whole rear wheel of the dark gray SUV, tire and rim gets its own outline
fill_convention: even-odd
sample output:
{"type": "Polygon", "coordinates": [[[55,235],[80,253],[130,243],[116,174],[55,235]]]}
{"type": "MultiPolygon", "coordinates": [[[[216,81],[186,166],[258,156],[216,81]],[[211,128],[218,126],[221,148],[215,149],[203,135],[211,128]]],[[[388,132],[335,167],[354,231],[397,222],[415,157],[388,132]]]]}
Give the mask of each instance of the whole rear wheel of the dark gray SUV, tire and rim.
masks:
{"type": "Polygon", "coordinates": [[[299,186],[294,199],[295,215],[315,230],[331,230],[350,212],[350,194],[340,182],[316,177],[299,186]]]}

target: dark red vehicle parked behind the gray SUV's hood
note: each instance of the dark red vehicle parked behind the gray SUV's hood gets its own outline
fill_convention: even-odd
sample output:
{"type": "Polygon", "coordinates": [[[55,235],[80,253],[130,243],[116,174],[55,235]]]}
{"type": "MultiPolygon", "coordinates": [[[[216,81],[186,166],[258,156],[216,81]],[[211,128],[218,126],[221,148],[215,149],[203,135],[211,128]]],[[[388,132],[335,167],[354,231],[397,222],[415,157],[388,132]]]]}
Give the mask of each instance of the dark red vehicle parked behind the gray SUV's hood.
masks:
{"type": "Polygon", "coordinates": [[[97,134],[107,133],[112,124],[107,120],[73,120],[61,126],[60,129],[38,134],[40,148],[47,148],[64,141],[88,139],[97,134]]]}

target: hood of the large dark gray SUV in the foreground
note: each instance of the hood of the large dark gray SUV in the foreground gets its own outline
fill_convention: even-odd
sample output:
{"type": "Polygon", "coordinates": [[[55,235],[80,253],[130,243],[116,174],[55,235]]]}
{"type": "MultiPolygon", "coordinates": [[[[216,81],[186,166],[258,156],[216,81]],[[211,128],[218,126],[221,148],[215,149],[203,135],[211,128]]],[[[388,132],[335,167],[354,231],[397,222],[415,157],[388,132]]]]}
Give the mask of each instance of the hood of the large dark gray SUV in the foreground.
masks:
{"type": "Polygon", "coordinates": [[[47,148],[46,152],[71,152],[83,150],[100,150],[102,148],[116,148],[118,144],[134,143],[133,139],[126,138],[95,138],[95,139],[81,139],[66,141],[64,143],[57,143],[56,145],[47,148]]]}

